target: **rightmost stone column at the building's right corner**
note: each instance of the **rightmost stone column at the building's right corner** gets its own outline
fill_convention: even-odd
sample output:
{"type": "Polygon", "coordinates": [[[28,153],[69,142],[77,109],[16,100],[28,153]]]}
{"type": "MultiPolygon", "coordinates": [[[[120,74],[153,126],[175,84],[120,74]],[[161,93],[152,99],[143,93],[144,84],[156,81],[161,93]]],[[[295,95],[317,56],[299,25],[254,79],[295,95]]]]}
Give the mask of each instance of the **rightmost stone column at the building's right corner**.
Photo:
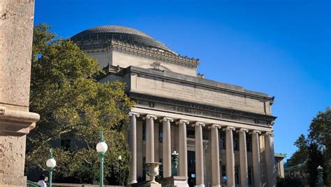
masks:
{"type": "Polygon", "coordinates": [[[267,168],[267,186],[273,187],[276,182],[276,168],[274,166],[274,138],[272,132],[265,133],[265,165],[267,168]]]}

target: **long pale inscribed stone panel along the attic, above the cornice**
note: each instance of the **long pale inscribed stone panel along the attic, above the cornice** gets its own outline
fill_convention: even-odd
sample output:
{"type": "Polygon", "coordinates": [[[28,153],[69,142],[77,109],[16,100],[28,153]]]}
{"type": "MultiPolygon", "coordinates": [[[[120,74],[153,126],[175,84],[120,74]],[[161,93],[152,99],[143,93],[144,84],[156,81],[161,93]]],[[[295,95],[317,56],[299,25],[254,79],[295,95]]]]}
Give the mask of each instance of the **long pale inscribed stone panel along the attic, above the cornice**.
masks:
{"type": "Polygon", "coordinates": [[[183,85],[180,83],[157,81],[140,76],[137,77],[136,81],[136,88],[131,88],[132,90],[136,89],[142,92],[150,92],[154,95],[195,101],[203,104],[211,104],[213,106],[265,113],[264,101],[244,97],[235,93],[208,90],[207,88],[183,85]]]}

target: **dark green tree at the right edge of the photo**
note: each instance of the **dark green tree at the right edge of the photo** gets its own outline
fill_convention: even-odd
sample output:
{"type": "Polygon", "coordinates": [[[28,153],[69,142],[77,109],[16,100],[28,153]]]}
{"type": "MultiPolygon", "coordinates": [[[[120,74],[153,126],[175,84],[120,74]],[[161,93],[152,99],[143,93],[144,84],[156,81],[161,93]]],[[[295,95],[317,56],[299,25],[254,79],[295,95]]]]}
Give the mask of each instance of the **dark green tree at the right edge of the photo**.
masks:
{"type": "MultiPolygon", "coordinates": [[[[331,184],[331,108],[318,112],[309,126],[308,137],[301,135],[296,141],[297,151],[291,157],[293,165],[304,163],[309,184],[316,184],[316,168],[323,167],[325,184],[331,184]]],[[[314,185],[313,185],[314,186],[314,185]]]]}

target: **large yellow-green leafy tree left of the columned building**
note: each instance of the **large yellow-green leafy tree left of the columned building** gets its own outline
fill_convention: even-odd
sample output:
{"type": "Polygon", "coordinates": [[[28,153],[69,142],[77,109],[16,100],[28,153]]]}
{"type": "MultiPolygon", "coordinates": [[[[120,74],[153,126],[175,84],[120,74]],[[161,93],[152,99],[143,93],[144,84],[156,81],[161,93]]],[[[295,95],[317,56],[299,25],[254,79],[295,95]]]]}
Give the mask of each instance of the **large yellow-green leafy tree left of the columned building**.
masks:
{"type": "Polygon", "coordinates": [[[122,181],[127,180],[127,113],[133,102],[124,93],[124,83],[98,83],[94,76],[103,72],[96,60],[71,40],[55,38],[50,26],[35,26],[33,41],[30,111],[41,120],[27,136],[27,172],[46,170],[48,150],[55,146],[55,181],[98,183],[95,146],[98,131],[103,131],[108,144],[105,183],[118,184],[119,155],[126,176],[122,181]],[[70,148],[61,147],[66,138],[71,139],[70,148]]]}

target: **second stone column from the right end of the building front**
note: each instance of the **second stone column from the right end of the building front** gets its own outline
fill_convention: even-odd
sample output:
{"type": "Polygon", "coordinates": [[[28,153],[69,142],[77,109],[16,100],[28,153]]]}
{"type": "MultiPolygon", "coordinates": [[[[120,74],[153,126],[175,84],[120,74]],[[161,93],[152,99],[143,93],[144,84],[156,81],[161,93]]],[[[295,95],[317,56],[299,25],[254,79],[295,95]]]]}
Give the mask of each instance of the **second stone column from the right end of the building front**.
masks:
{"type": "Polygon", "coordinates": [[[261,168],[260,168],[260,143],[258,140],[258,135],[261,134],[261,131],[254,130],[251,133],[251,151],[253,156],[253,182],[254,186],[262,186],[261,182],[261,168]]]}

